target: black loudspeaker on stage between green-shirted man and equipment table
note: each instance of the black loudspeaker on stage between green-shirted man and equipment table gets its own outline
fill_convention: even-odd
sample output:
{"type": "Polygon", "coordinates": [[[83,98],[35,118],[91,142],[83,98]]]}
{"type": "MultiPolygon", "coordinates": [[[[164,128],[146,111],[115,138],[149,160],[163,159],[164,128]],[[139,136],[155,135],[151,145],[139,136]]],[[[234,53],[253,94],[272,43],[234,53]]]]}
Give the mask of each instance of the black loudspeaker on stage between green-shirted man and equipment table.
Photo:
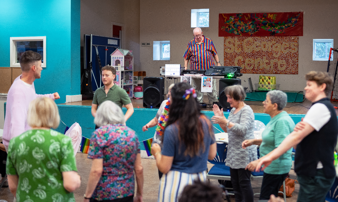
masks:
{"type": "Polygon", "coordinates": [[[143,78],[143,107],[160,108],[164,100],[164,77],[143,78]]]}

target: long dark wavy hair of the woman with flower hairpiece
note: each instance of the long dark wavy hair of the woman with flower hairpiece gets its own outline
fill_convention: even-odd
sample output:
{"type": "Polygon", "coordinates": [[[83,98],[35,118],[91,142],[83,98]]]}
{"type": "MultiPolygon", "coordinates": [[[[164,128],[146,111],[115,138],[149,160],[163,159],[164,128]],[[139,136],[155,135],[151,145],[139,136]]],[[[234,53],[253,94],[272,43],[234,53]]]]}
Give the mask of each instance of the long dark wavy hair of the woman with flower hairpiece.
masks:
{"type": "Polygon", "coordinates": [[[186,90],[190,88],[192,87],[184,82],[177,83],[172,87],[166,127],[171,124],[178,124],[178,139],[180,143],[183,142],[186,145],[184,155],[194,157],[199,155],[201,147],[203,152],[205,151],[204,132],[200,118],[207,122],[210,135],[213,134],[213,131],[210,120],[202,115],[197,99],[192,95],[187,100],[182,98],[186,90]]]}

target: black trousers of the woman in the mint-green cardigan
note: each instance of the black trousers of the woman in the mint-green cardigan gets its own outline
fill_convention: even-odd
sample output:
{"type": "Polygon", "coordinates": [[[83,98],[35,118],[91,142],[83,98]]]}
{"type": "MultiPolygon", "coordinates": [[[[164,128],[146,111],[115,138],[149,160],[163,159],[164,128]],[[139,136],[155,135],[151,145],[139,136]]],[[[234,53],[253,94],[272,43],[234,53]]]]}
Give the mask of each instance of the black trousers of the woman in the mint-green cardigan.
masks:
{"type": "Polygon", "coordinates": [[[263,181],[261,187],[261,195],[259,199],[270,199],[271,194],[277,197],[278,191],[281,188],[283,181],[289,173],[281,175],[263,174],[263,181]]]}

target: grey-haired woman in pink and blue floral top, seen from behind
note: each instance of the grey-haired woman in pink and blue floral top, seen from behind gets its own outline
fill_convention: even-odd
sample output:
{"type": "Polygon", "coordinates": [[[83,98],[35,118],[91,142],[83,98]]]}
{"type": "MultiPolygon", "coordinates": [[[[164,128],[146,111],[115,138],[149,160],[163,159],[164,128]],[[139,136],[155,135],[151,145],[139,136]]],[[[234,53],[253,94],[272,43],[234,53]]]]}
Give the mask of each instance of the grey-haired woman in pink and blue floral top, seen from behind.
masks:
{"type": "Polygon", "coordinates": [[[143,166],[135,131],[125,126],[121,108],[110,100],[97,110],[88,158],[93,159],[84,202],[142,202],[143,166]],[[137,192],[134,199],[135,179],[137,192]]]}

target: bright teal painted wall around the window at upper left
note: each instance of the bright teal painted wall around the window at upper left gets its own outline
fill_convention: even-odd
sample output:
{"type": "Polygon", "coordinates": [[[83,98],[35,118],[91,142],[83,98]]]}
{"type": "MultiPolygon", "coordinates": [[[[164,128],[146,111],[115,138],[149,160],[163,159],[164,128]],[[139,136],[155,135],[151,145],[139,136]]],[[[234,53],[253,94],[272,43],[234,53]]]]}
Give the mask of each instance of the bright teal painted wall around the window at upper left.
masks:
{"type": "Polygon", "coordinates": [[[46,36],[47,63],[38,94],[80,94],[80,0],[0,1],[0,67],[9,67],[9,38],[46,36]]]}

